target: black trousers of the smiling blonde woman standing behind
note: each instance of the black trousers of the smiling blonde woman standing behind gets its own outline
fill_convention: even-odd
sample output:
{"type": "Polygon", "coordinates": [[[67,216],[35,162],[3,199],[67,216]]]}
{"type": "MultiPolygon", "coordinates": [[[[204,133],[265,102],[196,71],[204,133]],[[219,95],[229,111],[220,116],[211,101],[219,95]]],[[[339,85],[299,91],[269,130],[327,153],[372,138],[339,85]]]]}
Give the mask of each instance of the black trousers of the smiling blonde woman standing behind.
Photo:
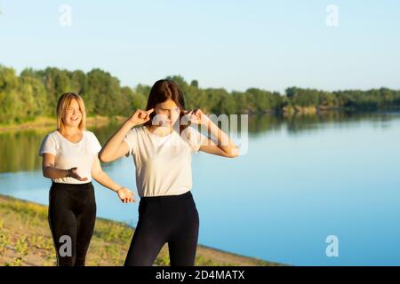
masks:
{"type": "Polygon", "coordinates": [[[92,183],[53,183],[49,193],[49,225],[59,266],[84,266],[96,220],[92,183]]]}

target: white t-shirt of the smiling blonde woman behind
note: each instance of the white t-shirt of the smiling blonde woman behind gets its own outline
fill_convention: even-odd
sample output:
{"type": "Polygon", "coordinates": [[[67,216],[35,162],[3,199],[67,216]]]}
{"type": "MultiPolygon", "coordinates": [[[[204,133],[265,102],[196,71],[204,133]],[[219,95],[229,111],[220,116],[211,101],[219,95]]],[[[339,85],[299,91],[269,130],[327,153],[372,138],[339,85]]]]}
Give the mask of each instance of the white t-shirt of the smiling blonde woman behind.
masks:
{"type": "Polygon", "coordinates": [[[83,138],[72,143],[64,138],[59,131],[53,131],[44,137],[39,155],[44,153],[55,155],[54,167],[61,170],[77,168],[81,177],[87,177],[86,181],[79,181],[73,177],[52,179],[61,184],[86,184],[92,181],[92,165],[94,158],[99,154],[101,146],[99,140],[91,131],[84,130],[83,138]]]}

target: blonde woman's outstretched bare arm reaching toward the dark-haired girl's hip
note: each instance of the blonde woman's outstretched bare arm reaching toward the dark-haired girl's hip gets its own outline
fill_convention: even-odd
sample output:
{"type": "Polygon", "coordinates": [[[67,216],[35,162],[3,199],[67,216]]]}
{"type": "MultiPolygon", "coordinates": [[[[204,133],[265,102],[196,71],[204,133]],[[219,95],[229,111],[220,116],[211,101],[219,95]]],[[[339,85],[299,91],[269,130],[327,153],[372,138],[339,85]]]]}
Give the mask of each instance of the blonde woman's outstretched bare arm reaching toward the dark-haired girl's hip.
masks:
{"type": "Polygon", "coordinates": [[[101,164],[98,156],[94,157],[92,165],[92,177],[100,185],[103,185],[110,190],[116,192],[124,203],[135,201],[132,197],[133,193],[129,189],[116,184],[108,175],[101,169],[101,164]]]}

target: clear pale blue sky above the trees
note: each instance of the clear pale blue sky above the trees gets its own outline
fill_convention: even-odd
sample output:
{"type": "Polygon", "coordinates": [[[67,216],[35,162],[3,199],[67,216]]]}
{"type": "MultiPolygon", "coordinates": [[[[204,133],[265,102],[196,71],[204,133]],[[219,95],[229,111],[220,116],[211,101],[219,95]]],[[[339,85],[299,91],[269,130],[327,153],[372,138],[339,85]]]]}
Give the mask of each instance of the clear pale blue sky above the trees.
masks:
{"type": "Polygon", "coordinates": [[[100,67],[124,85],[400,89],[400,1],[0,0],[0,64],[100,67]],[[72,25],[60,25],[61,4],[72,25]],[[339,26],[325,11],[335,4],[339,26]]]}

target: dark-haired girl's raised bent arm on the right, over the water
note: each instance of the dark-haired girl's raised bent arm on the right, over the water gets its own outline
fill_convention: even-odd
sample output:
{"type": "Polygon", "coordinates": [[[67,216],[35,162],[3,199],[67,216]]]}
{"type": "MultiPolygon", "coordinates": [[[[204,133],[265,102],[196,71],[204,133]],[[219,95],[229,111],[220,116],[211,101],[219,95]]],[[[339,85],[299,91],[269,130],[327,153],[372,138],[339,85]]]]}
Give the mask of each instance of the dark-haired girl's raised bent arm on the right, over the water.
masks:
{"type": "Polygon", "coordinates": [[[208,154],[216,154],[227,158],[236,158],[239,155],[239,149],[236,144],[228,137],[228,135],[220,130],[220,128],[209,119],[201,109],[196,109],[192,112],[186,112],[189,120],[196,124],[203,124],[207,132],[217,139],[217,143],[210,138],[206,138],[204,145],[200,146],[199,151],[208,154]]]}

